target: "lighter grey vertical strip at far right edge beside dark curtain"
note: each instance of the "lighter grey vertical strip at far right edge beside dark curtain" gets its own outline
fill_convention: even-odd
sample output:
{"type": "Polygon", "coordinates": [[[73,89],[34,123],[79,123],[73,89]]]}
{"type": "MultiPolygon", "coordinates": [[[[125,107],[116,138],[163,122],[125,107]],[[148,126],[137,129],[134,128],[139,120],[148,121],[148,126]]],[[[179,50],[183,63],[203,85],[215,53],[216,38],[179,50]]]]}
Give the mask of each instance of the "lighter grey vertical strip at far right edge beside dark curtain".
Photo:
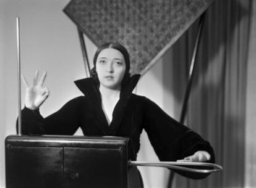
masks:
{"type": "Polygon", "coordinates": [[[245,186],[256,187],[256,1],[250,2],[250,34],[247,61],[245,118],[245,186]]]}

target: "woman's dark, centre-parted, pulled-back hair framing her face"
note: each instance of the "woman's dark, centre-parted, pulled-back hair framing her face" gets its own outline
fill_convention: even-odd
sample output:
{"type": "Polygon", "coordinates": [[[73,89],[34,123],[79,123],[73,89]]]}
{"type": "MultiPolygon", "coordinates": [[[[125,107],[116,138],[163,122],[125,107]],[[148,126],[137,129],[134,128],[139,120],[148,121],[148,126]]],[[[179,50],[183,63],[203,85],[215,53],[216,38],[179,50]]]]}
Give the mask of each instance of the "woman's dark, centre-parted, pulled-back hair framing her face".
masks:
{"type": "Polygon", "coordinates": [[[121,44],[119,44],[117,42],[105,43],[105,44],[101,45],[100,47],[98,47],[98,49],[96,50],[96,52],[94,54],[94,57],[93,57],[93,65],[94,65],[94,67],[91,70],[92,78],[97,83],[100,82],[98,80],[98,75],[96,73],[96,61],[97,61],[97,58],[98,58],[98,55],[100,54],[100,52],[103,51],[104,49],[107,49],[107,48],[116,49],[117,51],[121,52],[122,55],[124,55],[124,61],[126,63],[126,73],[125,73],[124,78],[122,80],[122,84],[124,84],[126,82],[126,80],[128,78],[130,78],[130,73],[129,73],[129,70],[130,70],[130,57],[129,57],[129,53],[128,53],[126,47],[122,46],[121,44]]]}

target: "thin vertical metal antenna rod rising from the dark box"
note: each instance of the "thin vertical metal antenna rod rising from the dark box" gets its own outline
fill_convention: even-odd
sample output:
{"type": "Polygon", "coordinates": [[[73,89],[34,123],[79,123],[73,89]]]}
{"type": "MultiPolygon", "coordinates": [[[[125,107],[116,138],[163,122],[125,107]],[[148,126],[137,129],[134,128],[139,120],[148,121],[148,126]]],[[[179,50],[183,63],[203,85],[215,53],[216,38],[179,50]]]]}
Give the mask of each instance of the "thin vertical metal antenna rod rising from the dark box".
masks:
{"type": "Polygon", "coordinates": [[[20,18],[16,18],[16,28],[17,28],[17,63],[18,63],[18,134],[19,136],[22,135],[21,133],[21,94],[20,94],[20,18]]]}

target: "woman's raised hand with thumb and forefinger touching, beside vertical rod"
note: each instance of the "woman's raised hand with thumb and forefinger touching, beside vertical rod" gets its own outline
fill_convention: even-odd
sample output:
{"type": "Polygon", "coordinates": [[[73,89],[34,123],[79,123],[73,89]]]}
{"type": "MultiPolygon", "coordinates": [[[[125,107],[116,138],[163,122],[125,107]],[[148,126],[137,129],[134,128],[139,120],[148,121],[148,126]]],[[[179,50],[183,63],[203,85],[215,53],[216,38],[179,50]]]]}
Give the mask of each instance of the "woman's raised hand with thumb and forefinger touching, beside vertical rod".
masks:
{"type": "Polygon", "coordinates": [[[35,76],[33,78],[33,84],[31,85],[28,84],[25,76],[22,75],[22,81],[26,87],[25,106],[31,110],[38,109],[49,96],[49,89],[43,87],[43,83],[45,82],[46,78],[46,72],[43,73],[39,81],[38,73],[38,70],[36,70],[35,76]]]}

